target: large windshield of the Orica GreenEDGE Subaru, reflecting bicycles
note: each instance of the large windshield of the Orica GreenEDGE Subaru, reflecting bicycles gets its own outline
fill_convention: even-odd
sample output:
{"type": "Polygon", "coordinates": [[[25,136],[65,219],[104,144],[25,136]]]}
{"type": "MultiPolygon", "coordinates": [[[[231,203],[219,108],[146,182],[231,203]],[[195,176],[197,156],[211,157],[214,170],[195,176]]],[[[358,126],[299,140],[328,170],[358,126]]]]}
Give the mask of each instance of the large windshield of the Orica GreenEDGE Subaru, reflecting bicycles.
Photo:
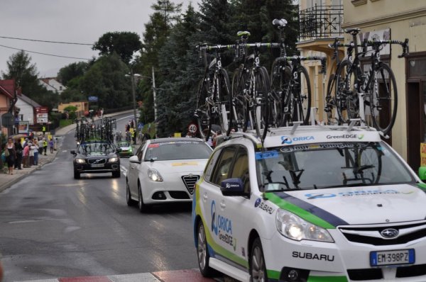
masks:
{"type": "Polygon", "coordinates": [[[322,143],[256,152],[261,191],[415,182],[381,142],[322,143]]]}

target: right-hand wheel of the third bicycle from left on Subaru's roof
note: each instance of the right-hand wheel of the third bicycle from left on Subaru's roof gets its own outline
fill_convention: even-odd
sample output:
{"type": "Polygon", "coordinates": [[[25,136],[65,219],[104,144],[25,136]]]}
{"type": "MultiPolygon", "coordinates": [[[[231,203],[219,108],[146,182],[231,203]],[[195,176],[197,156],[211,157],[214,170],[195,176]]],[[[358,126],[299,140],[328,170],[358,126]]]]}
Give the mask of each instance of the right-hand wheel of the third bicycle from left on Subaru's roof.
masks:
{"type": "Polygon", "coordinates": [[[293,72],[293,81],[290,82],[290,95],[288,98],[288,111],[290,111],[286,123],[293,125],[295,121],[301,121],[303,125],[309,123],[311,106],[310,79],[307,69],[303,66],[297,67],[293,72]]]}

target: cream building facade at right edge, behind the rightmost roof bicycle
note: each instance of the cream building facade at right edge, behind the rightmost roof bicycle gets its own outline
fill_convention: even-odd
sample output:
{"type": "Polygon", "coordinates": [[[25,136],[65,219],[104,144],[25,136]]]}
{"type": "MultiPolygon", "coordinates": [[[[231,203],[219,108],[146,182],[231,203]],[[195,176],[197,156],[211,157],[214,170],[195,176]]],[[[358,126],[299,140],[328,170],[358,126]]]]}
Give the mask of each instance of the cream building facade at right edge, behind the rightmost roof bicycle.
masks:
{"type": "Polygon", "coordinates": [[[343,6],[343,28],[361,28],[363,33],[388,33],[391,40],[409,40],[408,57],[398,58],[400,46],[391,45],[383,60],[391,66],[398,86],[392,147],[417,170],[420,142],[426,142],[426,1],[344,0],[343,6]]]}

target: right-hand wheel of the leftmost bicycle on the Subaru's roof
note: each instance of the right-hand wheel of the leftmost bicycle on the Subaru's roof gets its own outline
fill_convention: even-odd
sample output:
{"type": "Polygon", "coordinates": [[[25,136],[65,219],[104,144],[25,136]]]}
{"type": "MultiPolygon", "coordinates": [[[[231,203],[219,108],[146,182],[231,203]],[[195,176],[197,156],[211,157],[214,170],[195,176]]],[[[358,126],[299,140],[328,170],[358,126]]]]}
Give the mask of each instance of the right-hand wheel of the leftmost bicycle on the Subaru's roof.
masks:
{"type": "Polygon", "coordinates": [[[217,77],[218,97],[217,104],[219,106],[219,123],[223,132],[229,135],[232,126],[232,96],[229,91],[229,77],[225,69],[221,69],[217,77]]]}

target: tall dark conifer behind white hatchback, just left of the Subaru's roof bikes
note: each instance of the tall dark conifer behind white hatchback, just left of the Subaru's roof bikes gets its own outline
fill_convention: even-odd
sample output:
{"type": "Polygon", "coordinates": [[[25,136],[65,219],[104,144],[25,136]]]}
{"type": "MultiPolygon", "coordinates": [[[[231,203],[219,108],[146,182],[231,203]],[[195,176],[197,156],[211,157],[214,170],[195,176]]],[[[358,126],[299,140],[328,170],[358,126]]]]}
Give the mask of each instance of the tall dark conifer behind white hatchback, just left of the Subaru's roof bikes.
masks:
{"type": "Polygon", "coordinates": [[[197,17],[192,5],[170,33],[170,37],[160,50],[159,67],[165,79],[157,91],[159,136],[171,132],[182,132],[195,111],[194,85],[197,85],[198,58],[194,55],[191,43],[197,33],[197,17]]]}

